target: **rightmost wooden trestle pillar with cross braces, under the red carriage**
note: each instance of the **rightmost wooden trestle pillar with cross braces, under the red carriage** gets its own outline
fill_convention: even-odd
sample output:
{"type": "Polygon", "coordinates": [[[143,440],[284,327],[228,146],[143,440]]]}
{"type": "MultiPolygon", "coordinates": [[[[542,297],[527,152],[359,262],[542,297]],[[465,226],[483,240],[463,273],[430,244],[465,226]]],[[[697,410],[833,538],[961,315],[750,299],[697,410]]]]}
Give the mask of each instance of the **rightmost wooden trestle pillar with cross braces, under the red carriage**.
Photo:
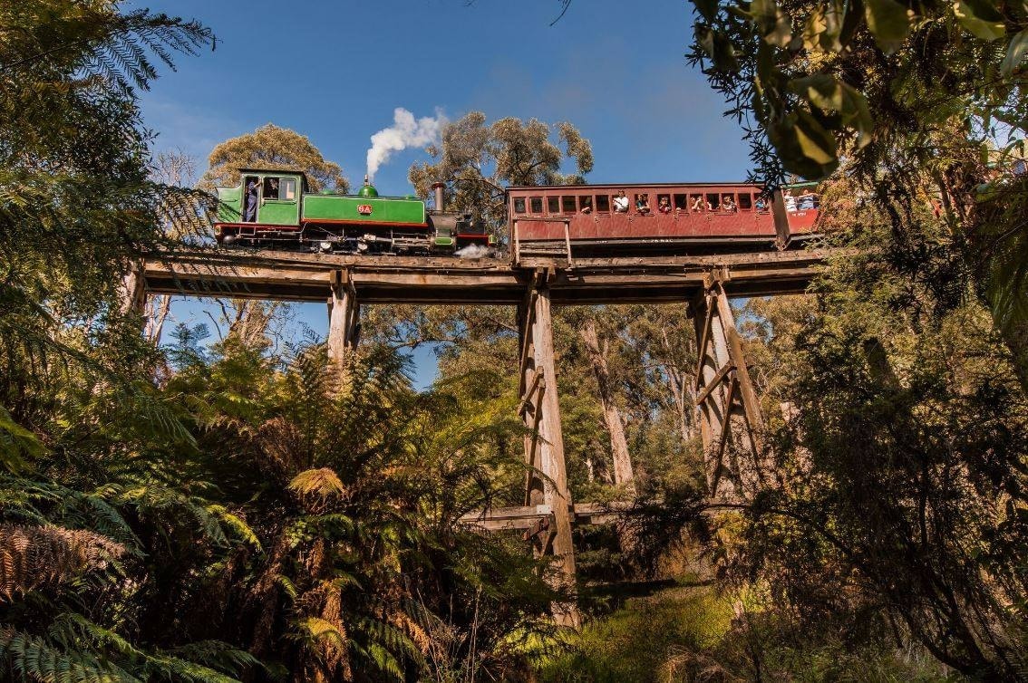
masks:
{"type": "Polygon", "coordinates": [[[747,500],[764,488],[764,419],[749,377],[742,339],[718,269],[691,302],[696,325],[696,405],[706,466],[707,492],[715,500],[747,500]]]}

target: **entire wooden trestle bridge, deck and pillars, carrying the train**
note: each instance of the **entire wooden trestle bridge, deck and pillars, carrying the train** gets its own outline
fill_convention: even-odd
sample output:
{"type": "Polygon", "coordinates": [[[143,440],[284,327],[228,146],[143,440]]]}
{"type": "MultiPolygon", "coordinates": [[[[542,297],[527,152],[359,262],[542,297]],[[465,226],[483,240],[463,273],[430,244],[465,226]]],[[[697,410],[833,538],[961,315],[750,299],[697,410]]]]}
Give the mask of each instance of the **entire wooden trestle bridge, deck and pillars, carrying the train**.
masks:
{"type": "MultiPolygon", "coordinates": [[[[149,294],[328,303],[329,357],[357,346],[360,306],[387,303],[517,306],[520,416],[529,429],[524,505],[482,510],[486,529],[527,529],[575,579],[572,526],[611,520],[610,507],[573,504],[567,489],[551,326],[553,306],[682,303],[695,320],[697,406],[708,493],[746,498],[770,468],[764,423],[729,297],[803,292],[830,250],[761,251],[707,256],[575,259],[362,257],[292,252],[203,251],[143,260],[125,276],[125,307],[142,312],[149,294]],[[545,477],[534,476],[533,471],[545,477]]],[[[556,608],[577,624],[574,606],[556,608]]]]}

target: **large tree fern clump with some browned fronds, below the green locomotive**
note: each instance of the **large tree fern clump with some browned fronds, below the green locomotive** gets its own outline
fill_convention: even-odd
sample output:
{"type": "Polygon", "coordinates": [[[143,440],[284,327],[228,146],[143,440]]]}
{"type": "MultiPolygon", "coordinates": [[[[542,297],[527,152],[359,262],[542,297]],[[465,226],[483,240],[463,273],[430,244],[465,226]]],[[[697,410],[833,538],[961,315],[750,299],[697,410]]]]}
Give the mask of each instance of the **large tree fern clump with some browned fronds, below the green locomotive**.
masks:
{"type": "Polygon", "coordinates": [[[516,669],[566,596],[518,543],[460,523],[523,476],[498,448],[521,426],[494,375],[418,394],[398,353],[369,348],[333,393],[323,345],[278,358],[230,338],[216,353],[192,354],[169,399],[191,407],[196,464],[254,535],[224,573],[169,562],[183,598],[154,622],[227,634],[294,681],[516,669]]]}

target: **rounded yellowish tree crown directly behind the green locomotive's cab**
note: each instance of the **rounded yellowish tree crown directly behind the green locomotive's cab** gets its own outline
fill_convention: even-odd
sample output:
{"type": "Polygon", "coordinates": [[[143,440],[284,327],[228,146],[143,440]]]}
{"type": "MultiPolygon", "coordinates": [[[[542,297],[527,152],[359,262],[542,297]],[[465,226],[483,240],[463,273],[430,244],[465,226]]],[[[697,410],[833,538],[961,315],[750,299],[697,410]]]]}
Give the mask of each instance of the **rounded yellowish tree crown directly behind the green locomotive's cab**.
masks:
{"type": "Polygon", "coordinates": [[[208,191],[216,186],[236,185],[240,168],[299,169],[306,174],[311,192],[345,193],[350,189],[342,168],[325,159],[309,138],[273,123],[220,143],[211,150],[207,161],[209,168],[198,187],[208,191]]]}

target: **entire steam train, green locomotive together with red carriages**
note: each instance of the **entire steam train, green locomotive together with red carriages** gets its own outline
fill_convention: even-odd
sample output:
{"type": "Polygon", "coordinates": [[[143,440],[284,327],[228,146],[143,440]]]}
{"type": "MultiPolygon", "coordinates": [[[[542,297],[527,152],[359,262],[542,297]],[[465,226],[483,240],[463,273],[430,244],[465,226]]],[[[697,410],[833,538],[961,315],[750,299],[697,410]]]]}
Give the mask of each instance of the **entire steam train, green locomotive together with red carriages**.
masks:
{"type": "MultiPolygon", "coordinates": [[[[494,253],[497,238],[470,214],[429,210],[418,197],[311,193],[300,172],[244,168],[218,188],[220,244],[343,254],[494,253]]],[[[576,185],[507,190],[516,253],[625,256],[784,249],[817,220],[812,186],[766,197],[751,184],[576,185]],[[794,192],[797,193],[794,196],[794,192]]],[[[434,186],[443,205],[443,185],[434,186]]]]}

